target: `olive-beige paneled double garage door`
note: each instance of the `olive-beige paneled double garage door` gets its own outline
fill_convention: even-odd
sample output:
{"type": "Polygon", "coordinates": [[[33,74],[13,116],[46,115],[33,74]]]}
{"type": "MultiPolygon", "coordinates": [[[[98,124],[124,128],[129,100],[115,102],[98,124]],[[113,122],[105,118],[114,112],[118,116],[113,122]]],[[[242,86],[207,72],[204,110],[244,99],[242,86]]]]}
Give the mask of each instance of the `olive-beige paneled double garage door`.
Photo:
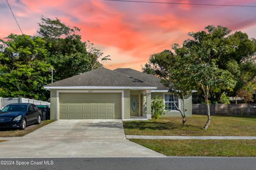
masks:
{"type": "Polygon", "coordinates": [[[121,119],[121,93],[60,93],[60,119],[121,119]]]}

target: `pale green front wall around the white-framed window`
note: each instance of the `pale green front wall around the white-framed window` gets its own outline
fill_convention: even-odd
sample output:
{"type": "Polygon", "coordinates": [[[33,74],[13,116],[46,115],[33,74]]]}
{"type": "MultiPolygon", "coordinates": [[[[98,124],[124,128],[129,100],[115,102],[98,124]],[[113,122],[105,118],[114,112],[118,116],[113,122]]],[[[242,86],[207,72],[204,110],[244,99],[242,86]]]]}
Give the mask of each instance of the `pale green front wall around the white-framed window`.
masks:
{"type": "MultiPolygon", "coordinates": [[[[161,92],[153,92],[151,93],[151,100],[154,100],[156,96],[163,98],[163,94],[164,93],[161,93],[161,92]]],[[[179,103],[180,103],[180,108],[183,108],[183,104],[180,101],[179,103]]],[[[187,109],[186,116],[187,117],[192,116],[192,95],[186,96],[185,109],[187,109]]],[[[169,111],[169,112],[166,112],[165,115],[162,115],[162,117],[178,117],[178,116],[181,116],[179,111],[169,111]]]]}

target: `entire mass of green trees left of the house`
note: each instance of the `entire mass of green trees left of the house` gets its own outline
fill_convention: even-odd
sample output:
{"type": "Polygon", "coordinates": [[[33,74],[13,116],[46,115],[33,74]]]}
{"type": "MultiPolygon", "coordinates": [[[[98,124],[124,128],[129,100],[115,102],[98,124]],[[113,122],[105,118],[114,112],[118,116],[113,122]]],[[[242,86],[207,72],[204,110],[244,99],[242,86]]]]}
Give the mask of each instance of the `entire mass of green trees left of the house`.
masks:
{"type": "Polygon", "coordinates": [[[80,29],[58,18],[42,18],[38,35],[11,34],[0,39],[0,96],[49,99],[43,86],[102,67],[109,55],[83,42],[80,29]]]}

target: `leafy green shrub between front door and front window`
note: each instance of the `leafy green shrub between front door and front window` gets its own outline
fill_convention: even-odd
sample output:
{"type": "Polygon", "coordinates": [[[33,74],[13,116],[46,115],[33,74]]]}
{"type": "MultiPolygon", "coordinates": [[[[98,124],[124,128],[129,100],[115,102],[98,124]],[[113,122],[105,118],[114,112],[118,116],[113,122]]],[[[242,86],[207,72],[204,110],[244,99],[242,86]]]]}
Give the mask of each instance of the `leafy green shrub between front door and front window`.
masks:
{"type": "Polygon", "coordinates": [[[162,114],[165,114],[164,100],[156,96],[151,103],[151,115],[155,119],[159,119],[162,114]]]}

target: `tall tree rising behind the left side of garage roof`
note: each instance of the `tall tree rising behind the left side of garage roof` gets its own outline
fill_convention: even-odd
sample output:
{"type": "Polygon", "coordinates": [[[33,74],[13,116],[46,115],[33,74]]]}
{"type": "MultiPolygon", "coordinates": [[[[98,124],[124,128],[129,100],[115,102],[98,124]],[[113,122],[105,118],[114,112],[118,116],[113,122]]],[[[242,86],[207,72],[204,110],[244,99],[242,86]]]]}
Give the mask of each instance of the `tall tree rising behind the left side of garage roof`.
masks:
{"type": "Polygon", "coordinates": [[[61,80],[102,67],[101,62],[109,55],[95,48],[90,42],[83,42],[80,29],[70,28],[58,18],[41,18],[37,33],[46,41],[49,61],[55,69],[54,80],[61,80]]]}

